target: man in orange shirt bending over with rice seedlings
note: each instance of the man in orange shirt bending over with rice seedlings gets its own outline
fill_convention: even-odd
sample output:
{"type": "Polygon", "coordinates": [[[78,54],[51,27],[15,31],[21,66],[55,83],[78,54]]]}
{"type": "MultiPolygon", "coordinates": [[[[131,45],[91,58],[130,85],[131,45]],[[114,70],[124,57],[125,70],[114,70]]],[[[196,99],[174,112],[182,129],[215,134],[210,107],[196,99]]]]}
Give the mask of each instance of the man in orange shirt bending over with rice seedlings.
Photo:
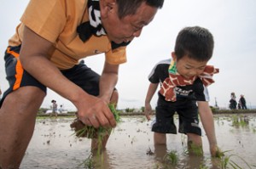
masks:
{"type": "Polygon", "coordinates": [[[20,166],[46,87],[69,99],[85,125],[115,127],[108,104],[118,100],[125,46],[163,1],[30,1],[4,57],[10,87],[0,103],[0,167],[20,166]],[[98,76],[79,59],[100,53],[106,58],[98,76]]]}

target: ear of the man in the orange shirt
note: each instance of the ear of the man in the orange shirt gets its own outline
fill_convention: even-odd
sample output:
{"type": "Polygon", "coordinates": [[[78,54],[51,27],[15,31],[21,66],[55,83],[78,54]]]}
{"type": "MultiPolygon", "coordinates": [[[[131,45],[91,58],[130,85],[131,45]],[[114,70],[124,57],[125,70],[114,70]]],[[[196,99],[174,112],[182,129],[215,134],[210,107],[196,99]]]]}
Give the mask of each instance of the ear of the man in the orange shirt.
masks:
{"type": "Polygon", "coordinates": [[[100,1],[100,8],[102,18],[107,18],[109,13],[113,12],[113,8],[116,6],[115,0],[101,0],[100,1]]]}

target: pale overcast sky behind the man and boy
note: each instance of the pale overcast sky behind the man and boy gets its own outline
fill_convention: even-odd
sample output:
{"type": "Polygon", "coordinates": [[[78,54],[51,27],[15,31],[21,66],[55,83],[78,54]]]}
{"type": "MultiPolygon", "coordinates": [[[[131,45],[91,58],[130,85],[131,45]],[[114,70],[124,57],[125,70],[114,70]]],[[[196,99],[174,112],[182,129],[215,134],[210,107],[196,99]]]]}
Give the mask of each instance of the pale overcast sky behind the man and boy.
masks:
{"type": "MultiPolygon", "coordinates": [[[[5,79],[4,51],[9,37],[15,33],[29,0],[3,0],[0,6],[0,86],[2,91],[9,85],[5,79]]],[[[256,105],[256,1],[255,0],[166,0],[154,20],[143,28],[140,37],[127,47],[127,63],[119,67],[119,109],[144,106],[148,91],[148,74],[162,59],[171,57],[178,31],[185,26],[199,25],[212,32],[215,47],[208,65],[219,68],[214,81],[208,87],[210,105],[227,108],[230,93],[236,99],[243,94],[247,107],[256,105]],[[253,77],[254,75],[254,77],[253,77]]],[[[104,55],[84,59],[86,65],[102,72],[104,55]]],[[[42,107],[49,108],[55,99],[67,110],[76,110],[73,104],[57,93],[48,90],[42,107]]],[[[157,94],[151,101],[155,107],[157,94]]]]}

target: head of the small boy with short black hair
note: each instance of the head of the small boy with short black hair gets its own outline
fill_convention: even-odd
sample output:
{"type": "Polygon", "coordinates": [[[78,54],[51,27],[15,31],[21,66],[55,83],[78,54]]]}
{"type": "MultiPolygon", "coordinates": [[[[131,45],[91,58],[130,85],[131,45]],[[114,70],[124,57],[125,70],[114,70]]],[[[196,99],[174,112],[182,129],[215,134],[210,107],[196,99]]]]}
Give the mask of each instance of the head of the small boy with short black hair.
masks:
{"type": "Polygon", "coordinates": [[[212,57],[213,46],[212,34],[207,29],[185,27],[178,33],[175,52],[172,53],[177,72],[187,79],[199,76],[212,57]]]}

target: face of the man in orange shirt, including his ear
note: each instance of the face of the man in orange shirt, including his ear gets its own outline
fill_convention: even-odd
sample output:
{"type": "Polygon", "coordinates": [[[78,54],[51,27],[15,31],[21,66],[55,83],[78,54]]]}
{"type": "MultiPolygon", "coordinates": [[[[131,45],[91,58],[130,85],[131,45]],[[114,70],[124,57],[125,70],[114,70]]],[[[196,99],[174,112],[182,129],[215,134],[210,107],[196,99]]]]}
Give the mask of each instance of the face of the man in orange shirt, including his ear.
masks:
{"type": "Polygon", "coordinates": [[[136,14],[119,20],[118,6],[116,3],[111,3],[102,12],[102,25],[107,31],[109,40],[116,43],[128,42],[140,36],[143,26],[148,25],[154,19],[157,9],[143,3],[137,8],[136,14]]]}

